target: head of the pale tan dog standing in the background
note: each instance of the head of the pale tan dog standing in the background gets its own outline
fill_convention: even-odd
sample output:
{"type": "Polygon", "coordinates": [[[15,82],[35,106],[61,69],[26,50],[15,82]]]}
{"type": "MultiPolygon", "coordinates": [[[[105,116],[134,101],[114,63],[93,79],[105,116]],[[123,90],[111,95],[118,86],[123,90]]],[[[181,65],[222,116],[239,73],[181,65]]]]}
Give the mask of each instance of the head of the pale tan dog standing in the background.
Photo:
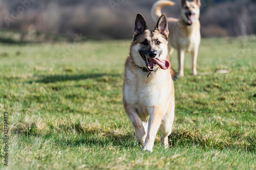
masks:
{"type": "Polygon", "coordinates": [[[181,17],[187,25],[191,25],[199,19],[200,6],[200,0],[194,0],[193,2],[181,0],[181,17]]]}

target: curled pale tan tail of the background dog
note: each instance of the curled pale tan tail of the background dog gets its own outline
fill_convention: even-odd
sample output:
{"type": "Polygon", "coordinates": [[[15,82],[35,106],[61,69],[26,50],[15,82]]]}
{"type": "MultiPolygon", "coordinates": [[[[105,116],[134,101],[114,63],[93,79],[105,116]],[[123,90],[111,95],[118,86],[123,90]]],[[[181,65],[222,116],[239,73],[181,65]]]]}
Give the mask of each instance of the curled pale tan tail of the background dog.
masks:
{"type": "MultiPolygon", "coordinates": [[[[162,8],[164,6],[174,6],[175,3],[172,1],[167,1],[167,0],[161,0],[161,1],[157,1],[155,2],[155,4],[153,5],[152,9],[151,9],[151,16],[153,18],[154,21],[157,21],[158,18],[162,15],[162,8]]],[[[170,19],[170,18],[167,18],[170,19]]]]}

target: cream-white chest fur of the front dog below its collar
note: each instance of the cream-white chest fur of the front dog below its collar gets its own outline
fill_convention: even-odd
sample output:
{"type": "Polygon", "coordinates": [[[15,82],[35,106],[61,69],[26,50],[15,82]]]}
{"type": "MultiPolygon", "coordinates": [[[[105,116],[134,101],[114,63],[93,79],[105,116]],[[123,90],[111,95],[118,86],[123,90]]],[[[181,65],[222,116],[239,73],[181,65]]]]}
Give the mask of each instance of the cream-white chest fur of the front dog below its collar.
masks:
{"type": "Polygon", "coordinates": [[[127,77],[124,81],[124,98],[128,104],[136,109],[145,110],[144,107],[158,106],[163,103],[170,93],[169,70],[158,70],[150,78],[144,72],[133,75],[126,70],[127,77]]]}

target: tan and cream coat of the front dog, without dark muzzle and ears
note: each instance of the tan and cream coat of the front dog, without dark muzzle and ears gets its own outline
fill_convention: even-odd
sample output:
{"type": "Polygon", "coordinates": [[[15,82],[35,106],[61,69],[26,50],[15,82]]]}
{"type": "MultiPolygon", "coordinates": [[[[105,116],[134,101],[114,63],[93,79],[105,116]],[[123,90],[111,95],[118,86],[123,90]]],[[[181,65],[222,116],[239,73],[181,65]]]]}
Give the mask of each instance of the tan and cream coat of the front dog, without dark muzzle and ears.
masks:
{"type": "Polygon", "coordinates": [[[159,128],[162,132],[161,145],[164,148],[168,147],[168,135],[172,132],[174,121],[175,99],[172,77],[175,77],[175,71],[170,66],[168,69],[157,66],[153,75],[147,77],[148,72],[143,72],[139,68],[145,67],[145,62],[138,53],[143,48],[142,42],[145,39],[150,41],[152,48],[161,51],[159,58],[169,61],[168,41],[165,37],[167,33],[162,35],[158,30],[145,30],[137,37],[136,35],[137,32],[134,31],[130,56],[125,62],[123,105],[135,129],[137,141],[144,146],[143,151],[152,152],[159,128]],[[156,39],[161,41],[161,44],[155,45],[156,39]]]}

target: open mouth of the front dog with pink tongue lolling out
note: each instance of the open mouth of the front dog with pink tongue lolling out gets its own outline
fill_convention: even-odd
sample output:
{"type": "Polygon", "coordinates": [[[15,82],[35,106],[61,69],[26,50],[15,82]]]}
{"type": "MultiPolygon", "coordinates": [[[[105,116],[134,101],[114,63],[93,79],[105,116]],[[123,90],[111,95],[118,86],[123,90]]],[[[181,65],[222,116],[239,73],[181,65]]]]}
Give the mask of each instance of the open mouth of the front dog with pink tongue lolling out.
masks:
{"type": "Polygon", "coordinates": [[[170,66],[170,63],[167,60],[161,60],[159,57],[147,58],[142,53],[140,53],[140,55],[145,61],[148,71],[155,71],[156,65],[158,65],[162,69],[168,69],[170,66]]]}

